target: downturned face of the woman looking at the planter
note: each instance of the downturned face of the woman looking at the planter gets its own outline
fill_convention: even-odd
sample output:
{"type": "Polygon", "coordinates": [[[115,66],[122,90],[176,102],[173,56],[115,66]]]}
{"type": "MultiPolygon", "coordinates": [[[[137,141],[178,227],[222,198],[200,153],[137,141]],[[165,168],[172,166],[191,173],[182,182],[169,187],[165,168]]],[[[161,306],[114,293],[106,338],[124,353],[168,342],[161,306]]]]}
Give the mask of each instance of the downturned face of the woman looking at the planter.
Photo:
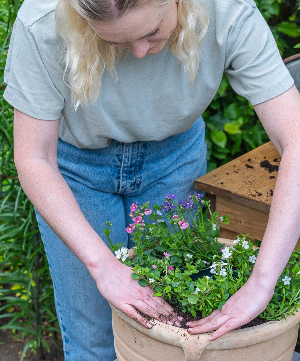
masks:
{"type": "Polygon", "coordinates": [[[101,39],[119,48],[131,48],[137,58],[159,53],[176,25],[175,1],[166,5],[137,6],[112,22],[91,22],[101,39]]]}

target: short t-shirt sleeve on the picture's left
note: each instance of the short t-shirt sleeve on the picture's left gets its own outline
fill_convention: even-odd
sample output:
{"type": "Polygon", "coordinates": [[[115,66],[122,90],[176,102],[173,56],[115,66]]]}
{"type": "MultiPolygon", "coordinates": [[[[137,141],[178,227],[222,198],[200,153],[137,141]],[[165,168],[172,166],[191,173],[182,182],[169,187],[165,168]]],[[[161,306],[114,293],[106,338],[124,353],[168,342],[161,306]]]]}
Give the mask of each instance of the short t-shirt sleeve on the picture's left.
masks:
{"type": "Polygon", "coordinates": [[[14,108],[37,119],[56,120],[61,116],[64,97],[50,78],[31,28],[18,17],[10,38],[4,82],[3,97],[14,108]]]}

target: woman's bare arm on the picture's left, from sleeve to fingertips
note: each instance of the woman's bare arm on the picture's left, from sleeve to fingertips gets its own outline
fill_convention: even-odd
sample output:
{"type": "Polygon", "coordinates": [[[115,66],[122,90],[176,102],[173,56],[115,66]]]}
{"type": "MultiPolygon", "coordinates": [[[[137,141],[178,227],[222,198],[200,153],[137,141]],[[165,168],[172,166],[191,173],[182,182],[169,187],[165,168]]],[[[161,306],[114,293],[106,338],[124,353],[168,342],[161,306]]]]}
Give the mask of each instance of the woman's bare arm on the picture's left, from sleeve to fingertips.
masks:
{"type": "Polygon", "coordinates": [[[58,169],[58,134],[59,119],[44,121],[15,109],[14,162],[23,191],[112,305],[145,327],[151,327],[149,321],[136,310],[163,322],[177,321],[169,304],[131,278],[131,269],[116,259],[81,212],[58,169]]]}

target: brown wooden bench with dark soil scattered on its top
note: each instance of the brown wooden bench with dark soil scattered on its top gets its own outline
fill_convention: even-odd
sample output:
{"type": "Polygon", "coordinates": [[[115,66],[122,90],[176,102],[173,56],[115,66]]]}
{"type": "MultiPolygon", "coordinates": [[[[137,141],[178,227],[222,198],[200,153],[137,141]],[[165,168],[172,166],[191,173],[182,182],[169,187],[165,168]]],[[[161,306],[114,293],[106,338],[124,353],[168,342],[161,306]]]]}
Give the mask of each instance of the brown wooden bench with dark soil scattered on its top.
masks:
{"type": "MultiPolygon", "coordinates": [[[[263,239],[278,172],[262,167],[262,161],[279,166],[280,156],[271,142],[195,180],[195,188],[208,193],[212,210],[229,215],[229,225],[220,227],[221,238],[248,233],[263,239]]],[[[296,248],[299,245],[300,239],[296,248]]]]}

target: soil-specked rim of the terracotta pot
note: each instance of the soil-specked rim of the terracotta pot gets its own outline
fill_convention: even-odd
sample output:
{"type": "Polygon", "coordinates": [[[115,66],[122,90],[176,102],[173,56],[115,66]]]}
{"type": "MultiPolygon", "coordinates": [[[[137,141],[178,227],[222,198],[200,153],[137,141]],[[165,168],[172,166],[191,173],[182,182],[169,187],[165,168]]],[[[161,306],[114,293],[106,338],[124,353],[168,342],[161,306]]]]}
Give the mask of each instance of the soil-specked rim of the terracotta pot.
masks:
{"type": "MultiPolygon", "coordinates": [[[[218,240],[226,245],[233,244],[231,239],[219,238],[218,240]]],[[[257,249],[259,247],[254,248],[257,249]]],[[[130,251],[133,252],[132,249],[130,251]]],[[[280,321],[268,321],[261,325],[247,327],[246,329],[232,330],[214,341],[208,341],[209,336],[214,331],[191,335],[186,329],[167,325],[156,319],[153,319],[153,327],[147,329],[115,306],[110,303],[109,305],[123,321],[151,338],[177,346],[182,346],[183,342],[188,340],[188,343],[194,347],[199,347],[199,344],[201,344],[202,346],[205,345],[205,349],[208,350],[240,348],[261,343],[283,334],[300,321],[300,312],[295,310],[295,314],[289,314],[289,316],[286,316],[286,320],[282,318],[280,321]]]]}

